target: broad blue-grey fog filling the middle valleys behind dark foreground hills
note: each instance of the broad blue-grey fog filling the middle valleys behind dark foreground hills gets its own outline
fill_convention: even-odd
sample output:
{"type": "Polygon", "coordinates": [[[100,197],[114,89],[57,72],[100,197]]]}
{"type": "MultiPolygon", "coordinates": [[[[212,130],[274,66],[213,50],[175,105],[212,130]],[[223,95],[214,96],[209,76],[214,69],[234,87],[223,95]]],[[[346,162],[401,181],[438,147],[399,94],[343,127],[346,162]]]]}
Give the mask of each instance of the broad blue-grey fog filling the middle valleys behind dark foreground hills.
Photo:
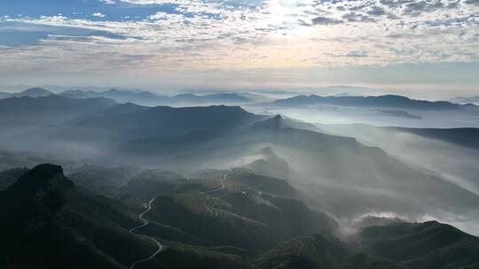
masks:
{"type": "Polygon", "coordinates": [[[190,128],[178,123],[191,117],[184,114],[177,119],[161,119],[169,122],[164,127],[156,118],[132,118],[124,124],[122,120],[130,119],[130,114],[117,118],[95,114],[86,121],[76,113],[55,117],[39,114],[28,118],[27,124],[4,120],[0,150],[10,152],[4,160],[11,165],[4,169],[32,167],[41,161],[66,165],[67,171],[86,164],[132,165],[135,169],[155,168],[185,175],[245,167],[288,181],[301,191],[310,208],[337,219],[345,234],[354,231],[365,216],[436,219],[479,234],[479,150],[397,129],[350,124],[475,126],[479,121],[473,123],[474,115],[459,120],[459,115],[452,112],[404,114],[337,106],[247,108],[315,123],[318,129],[312,132],[314,127],[298,122],[288,128],[286,119],[269,122],[269,116],[241,119],[232,127],[219,128],[205,118],[194,122],[199,127],[190,128]]]}

